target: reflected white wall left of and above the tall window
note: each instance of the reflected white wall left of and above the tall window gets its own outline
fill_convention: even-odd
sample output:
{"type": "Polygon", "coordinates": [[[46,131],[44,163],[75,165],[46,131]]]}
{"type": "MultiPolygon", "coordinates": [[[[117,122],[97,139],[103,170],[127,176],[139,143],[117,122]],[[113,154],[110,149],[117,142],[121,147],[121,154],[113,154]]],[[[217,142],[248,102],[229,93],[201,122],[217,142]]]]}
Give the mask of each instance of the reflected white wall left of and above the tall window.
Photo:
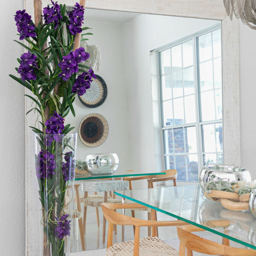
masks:
{"type": "Polygon", "coordinates": [[[143,14],[124,24],[131,169],[154,172],[155,154],[160,154],[154,150],[149,52],[217,23],[216,20],[143,14]]]}

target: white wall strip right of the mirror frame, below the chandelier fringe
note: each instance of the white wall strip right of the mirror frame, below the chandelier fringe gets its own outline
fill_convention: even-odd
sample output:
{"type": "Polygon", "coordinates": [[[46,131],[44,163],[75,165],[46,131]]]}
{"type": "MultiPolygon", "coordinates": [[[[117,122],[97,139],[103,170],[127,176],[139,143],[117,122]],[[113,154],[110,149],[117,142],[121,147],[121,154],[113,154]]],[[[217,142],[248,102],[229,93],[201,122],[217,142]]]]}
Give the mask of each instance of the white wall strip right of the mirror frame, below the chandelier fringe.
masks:
{"type": "Polygon", "coordinates": [[[240,21],[241,165],[256,179],[256,31],[240,21]]]}

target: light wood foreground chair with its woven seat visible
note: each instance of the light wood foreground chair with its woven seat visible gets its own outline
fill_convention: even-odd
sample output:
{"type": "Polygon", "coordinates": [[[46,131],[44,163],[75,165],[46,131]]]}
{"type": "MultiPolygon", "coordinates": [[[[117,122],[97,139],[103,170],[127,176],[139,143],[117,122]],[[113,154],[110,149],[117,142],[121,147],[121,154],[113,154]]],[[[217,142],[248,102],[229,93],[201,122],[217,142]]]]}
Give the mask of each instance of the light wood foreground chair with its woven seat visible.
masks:
{"type": "Polygon", "coordinates": [[[177,250],[157,238],[156,227],[186,225],[184,221],[155,221],[152,209],[152,220],[141,220],[116,212],[116,209],[144,208],[140,204],[102,204],[102,211],[108,220],[108,243],[106,256],[178,256],[177,250]],[[113,225],[134,225],[134,240],[113,244],[113,225]],[[140,239],[140,227],[152,227],[154,237],[140,239]]]}

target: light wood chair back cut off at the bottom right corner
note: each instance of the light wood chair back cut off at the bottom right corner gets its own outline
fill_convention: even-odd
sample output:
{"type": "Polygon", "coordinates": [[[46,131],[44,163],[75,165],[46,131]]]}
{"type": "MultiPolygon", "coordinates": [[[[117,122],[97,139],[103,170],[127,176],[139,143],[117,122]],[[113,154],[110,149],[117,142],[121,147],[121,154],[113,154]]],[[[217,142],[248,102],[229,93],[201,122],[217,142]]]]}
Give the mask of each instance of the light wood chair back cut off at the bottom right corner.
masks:
{"type": "Polygon", "coordinates": [[[191,233],[195,231],[204,230],[193,225],[177,227],[177,233],[180,239],[179,256],[193,256],[193,251],[209,255],[256,256],[256,250],[235,248],[227,244],[218,244],[191,233]]]}

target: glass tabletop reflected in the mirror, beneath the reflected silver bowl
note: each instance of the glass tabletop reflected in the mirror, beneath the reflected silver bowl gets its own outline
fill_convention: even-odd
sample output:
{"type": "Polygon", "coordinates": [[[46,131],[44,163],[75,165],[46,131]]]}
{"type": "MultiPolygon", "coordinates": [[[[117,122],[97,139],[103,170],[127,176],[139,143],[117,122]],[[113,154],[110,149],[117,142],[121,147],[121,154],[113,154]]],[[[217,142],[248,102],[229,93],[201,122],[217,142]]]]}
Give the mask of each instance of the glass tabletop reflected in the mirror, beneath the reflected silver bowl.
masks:
{"type": "Polygon", "coordinates": [[[91,179],[106,179],[118,177],[131,177],[131,176],[148,176],[148,175],[163,175],[165,172],[136,172],[136,171],[122,171],[117,170],[112,174],[90,174],[88,172],[76,173],[75,180],[91,180],[91,179]]]}

